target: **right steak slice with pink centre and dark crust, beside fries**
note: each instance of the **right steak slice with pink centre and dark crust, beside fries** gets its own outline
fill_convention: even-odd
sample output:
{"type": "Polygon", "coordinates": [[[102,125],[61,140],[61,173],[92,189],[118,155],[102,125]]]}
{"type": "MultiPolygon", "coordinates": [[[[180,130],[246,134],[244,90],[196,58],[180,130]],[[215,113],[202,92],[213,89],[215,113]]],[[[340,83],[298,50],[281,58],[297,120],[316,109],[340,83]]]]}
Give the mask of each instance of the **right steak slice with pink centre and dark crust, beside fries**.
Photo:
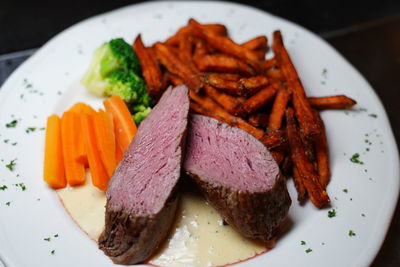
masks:
{"type": "Polygon", "coordinates": [[[246,237],[271,240],[287,216],[291,199],[279,166],[241,129],[192,115],[184,169],[223,219],[246,237]]]}

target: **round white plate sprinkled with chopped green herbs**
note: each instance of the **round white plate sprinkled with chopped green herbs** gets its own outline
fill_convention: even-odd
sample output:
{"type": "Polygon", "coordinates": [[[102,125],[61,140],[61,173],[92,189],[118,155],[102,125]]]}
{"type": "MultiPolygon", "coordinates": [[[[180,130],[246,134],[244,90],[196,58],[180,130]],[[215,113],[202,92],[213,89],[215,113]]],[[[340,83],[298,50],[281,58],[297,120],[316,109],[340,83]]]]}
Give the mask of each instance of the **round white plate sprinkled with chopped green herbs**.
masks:
{"type": "Polygon", "coordinates": [[[101,105],[100,99],[76,86],[101,43],[113,37],[131,42],[138,33],[147,44],[164,40],[190,17],[226,24],[238,42],[281,29],[308,95],[344,93],[359,103],[354,111],[322,115],[331,148],[328,193],[336,217],[328,218],[328,210],[310,203],[299,206],[289,181],[294,203],[291,228],[272,251],[240,266],[366,266],[374,259],[397,201],[399,159],[383,106],[365,79],[319,37],[268,13],[226,2],[153,2],[96,16],[65,30],[0,90],[0,186],[8,187],[0,191],[0,257],[6,266],[113,265],[42,181],[44,131],[39,128],[47,116],[61,114],[76,101],[101,105]],[[6,128],[14,118],[17,126],[6,128]],[[28,127],[37,129],[26,133],[28,127]],[[354,153],[360,153],[363,165],[350,161],[354,153]],[[16,166],[11,172],[5,165],[13,159],[16,166]],[[21,182],[25,191],[15,186],[21,182]],[[356,235],[349,236],[349,230],[356,235]],[[47,237],[51,241],[45,241],[47,237]],[[307,248],[312,252],[306,253],[307,248]]]}

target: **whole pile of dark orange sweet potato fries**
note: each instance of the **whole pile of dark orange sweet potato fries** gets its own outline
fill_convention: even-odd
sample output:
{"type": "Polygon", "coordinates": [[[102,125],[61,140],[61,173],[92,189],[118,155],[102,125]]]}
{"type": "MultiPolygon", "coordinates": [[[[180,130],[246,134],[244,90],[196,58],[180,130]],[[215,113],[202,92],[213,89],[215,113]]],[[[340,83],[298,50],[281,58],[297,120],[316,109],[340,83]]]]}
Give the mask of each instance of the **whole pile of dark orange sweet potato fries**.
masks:
{"type": "Polygon", "coordinates": [[[221,24],[190,19],[165,42],[145,47],[134,41],[148,91],[159,98],[169,85],[190,88],[193,112],[241,128],[267,146],[282,171],[292,175],[298,200],[322,208],[329,202],[328,145],[319,115],[323,109],[356,104],[344,95],[307,97],[283,44],[273,33],[237,44],[221,24]]]}

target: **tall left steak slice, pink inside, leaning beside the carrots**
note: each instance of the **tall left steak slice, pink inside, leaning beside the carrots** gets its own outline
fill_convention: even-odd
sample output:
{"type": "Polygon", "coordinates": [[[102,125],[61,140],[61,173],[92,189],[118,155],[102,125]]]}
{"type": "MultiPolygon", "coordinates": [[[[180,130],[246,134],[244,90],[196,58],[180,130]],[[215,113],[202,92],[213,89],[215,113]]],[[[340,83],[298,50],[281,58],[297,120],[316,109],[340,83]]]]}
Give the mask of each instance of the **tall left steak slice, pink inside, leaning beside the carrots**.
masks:
{"type": "Polygon", "coordinates": [[[106,193],[99,248],[114,263],[150,257],[174,220],[189,112],[186,86],[169,88],[143,120],[106,193]]]}

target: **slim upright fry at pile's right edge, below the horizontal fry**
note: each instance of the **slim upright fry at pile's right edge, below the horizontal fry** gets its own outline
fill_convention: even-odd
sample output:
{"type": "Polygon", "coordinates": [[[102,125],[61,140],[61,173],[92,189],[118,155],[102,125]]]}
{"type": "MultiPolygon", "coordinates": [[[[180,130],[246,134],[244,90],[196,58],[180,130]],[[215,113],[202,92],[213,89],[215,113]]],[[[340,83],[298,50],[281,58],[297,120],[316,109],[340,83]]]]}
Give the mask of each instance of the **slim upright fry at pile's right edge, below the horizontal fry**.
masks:
{"type": "Polygon", "coordinates": [[[317,158],[317,171],[319,182],[323,188],[329,183],[331,171],[329,167],[328,141],[326,139],[325,125],[318,112],[314,112],[317,123],[320,125],[321,134],[315,139],[315,155],[317,158]]]}

